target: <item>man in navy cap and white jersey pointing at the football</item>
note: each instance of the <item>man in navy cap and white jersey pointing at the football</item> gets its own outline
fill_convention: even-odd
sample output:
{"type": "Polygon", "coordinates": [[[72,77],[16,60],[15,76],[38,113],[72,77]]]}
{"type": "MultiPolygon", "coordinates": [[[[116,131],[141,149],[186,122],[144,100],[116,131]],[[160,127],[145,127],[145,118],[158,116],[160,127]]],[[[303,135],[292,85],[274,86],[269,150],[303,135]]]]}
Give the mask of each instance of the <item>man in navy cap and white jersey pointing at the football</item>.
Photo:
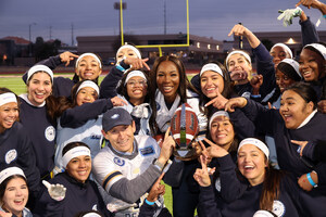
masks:
{"type": "MultiPolygon", "coordinates": [[[[102,125],[108,141],[93,159],[93,174],[110,194],[108,207],[116,217],[138,216],[146,192],[162,174],[175,142],[168,136],[170,130],[162,149],[149,136],[134,136],[135,123],[121,107],[104,113],[102,125]]],[[[158,215],[164,206],[163,200],[156,204],[158,215]]]]}

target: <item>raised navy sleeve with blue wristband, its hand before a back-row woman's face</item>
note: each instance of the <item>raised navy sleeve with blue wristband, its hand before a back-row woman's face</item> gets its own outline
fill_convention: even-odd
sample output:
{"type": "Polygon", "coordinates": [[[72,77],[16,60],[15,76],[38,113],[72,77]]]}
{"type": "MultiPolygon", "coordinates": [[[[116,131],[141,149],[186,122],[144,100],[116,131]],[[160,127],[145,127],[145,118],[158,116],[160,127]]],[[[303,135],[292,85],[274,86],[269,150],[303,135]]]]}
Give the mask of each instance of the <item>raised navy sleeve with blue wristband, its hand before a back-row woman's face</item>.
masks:
{"type": "Polygon", "coordinates": [[[124,72],[129,67],[129,65],[122,61],[118,66],[111,68],[110,73],[104,77],[100,85],[100,99],[113,98],[117,94],[116,86],[122,79],[124,72]]]}

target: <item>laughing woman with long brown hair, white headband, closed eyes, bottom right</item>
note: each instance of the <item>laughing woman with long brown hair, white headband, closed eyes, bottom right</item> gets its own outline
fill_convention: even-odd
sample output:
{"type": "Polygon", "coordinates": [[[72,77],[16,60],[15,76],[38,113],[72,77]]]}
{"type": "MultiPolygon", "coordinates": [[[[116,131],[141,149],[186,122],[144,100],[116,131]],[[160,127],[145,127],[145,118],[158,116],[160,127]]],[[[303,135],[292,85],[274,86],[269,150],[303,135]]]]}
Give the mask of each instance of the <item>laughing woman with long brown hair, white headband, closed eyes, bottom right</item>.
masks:
{"type": "Polygon", "coordinates": [[[237,162],[242,176],[237,174],[229,153],[214,144],[213,148],[221,166],[221,194],[214,196],[215,188],[211,184],[204,157],[201,157],[202,169],[195,174],[201,186],[200,205],[208,216],[253,216],[258,209],[276,216],[305,214],[293,180],[268,164],[269,151],[265,143],[254,138],[240,142],[237,162]]]}

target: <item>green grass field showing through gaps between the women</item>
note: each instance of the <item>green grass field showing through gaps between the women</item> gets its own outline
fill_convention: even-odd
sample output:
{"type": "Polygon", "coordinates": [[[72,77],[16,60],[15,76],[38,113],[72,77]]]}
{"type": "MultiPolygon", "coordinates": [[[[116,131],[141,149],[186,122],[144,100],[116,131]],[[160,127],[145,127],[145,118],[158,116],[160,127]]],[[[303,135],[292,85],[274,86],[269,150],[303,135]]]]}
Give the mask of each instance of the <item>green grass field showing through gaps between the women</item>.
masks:
{"type": "MultiPolygon", "coordinates": [[[[63,77],[73,77],[73,74],[64,74],[63,77]]],[[[100,77],[99,81],[101,82],[103,80],[103,76],[100,77]]],[[[188,79],[190,79],[191,76],[188,76],[188,79]]],[[[22,79],[22,75],[1,75],[0,76],[0,87],[5,87],[15,92],[17,95],[26,92],[26,85],[24,84],[22,79]]],[[[165,206],[168,208],[168,210],[172,213],[172,192],[171,187],[165,184],[165,206]]]]}

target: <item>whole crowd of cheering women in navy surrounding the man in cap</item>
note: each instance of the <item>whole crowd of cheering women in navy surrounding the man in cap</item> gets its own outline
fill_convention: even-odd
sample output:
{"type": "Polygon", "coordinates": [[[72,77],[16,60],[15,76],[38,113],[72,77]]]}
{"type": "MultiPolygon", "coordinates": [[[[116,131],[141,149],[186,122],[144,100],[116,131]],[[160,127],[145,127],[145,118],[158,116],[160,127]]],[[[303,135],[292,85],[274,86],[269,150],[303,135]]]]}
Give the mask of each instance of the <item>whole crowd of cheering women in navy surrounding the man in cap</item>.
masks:
{"type": "MultiPolygon", "coordinates": [[[[324,216],[326,47],[303,12],[300,18],[298,62],[286,44],[267,51],[248,28],[234,26],[229,35],[244,36],[258,63],[251,79],[242,50],[224,64],[204,64],[191,81],[181,60],[161,56],[150,67],[131,44],[118,49],[101,84],[93,53],[64,52],[33,66],[23,76],[25,94],[0,88],[0,216],[113,216],[91,175],[102,114],[122,106],[136,135],[158,137],[183,103],[199,119],[202,153],[174,159],[180,166],[170,183],[174,216],[193,216],[196,208],[199,216],[324,216]],[[53,75],[75,59],[73,79],[53,75]]],[[[163,193],[155,183],[148,200],[163,193]]],[[[140,210],[153,215],[148,203],[140,210]]]]}

